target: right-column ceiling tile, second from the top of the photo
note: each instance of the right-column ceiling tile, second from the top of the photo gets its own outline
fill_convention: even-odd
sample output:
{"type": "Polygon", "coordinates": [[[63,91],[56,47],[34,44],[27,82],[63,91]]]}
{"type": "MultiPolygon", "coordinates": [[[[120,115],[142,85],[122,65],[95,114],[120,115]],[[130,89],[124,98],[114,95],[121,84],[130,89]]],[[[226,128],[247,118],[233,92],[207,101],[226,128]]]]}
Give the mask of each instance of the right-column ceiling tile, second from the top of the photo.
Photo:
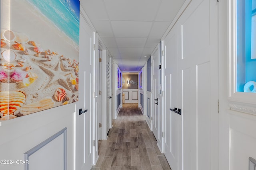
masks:
{"type": "Polygon", "coordinates": [[[150,38],[162,38],[166,29],[169,27],[171,22],[154,22],[153,27],[150,31],[150,38]]]}

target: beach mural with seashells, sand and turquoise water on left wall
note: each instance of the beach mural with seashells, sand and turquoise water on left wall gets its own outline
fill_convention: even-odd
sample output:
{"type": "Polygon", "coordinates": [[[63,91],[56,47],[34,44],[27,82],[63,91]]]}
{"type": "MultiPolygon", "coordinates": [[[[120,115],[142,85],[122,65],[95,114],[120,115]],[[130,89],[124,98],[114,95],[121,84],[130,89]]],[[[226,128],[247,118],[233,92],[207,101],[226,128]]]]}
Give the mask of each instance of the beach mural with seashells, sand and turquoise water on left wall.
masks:
{"type": "Polygon", "coordinates": [[[77,102],[80,1],[0,3],[0,120],[77,102]]]}

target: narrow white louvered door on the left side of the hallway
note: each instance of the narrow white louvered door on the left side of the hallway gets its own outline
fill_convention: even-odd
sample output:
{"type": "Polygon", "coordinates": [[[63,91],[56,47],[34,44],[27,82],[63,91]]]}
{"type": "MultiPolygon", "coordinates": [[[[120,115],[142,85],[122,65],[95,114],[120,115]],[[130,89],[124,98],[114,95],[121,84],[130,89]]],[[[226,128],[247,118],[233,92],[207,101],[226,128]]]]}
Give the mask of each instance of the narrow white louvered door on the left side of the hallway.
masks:
{"type": "Polygon", "coordinates": [[[111,93],[111,82],[112,82],[112,76],[111,76],[111,58],[107,57],[107,115],[106,115],[106,121],[107,121],[107,133],[108,130],[112,127],[112,93],[111,93]]]}

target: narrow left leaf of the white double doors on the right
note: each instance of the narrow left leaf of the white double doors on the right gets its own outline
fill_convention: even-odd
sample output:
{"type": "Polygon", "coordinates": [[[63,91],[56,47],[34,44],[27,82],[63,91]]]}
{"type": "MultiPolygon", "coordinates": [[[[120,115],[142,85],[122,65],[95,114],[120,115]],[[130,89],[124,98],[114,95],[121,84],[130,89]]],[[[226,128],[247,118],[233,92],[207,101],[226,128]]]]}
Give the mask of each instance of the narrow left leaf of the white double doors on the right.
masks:
{"type": "Polygon", "coordinates": [[[178,107],[178,47],[177,28],[173,27],[164,39],[164,154],[173,170],[178,170],[178,125],[181,115],[175,112],[178,107]]]}

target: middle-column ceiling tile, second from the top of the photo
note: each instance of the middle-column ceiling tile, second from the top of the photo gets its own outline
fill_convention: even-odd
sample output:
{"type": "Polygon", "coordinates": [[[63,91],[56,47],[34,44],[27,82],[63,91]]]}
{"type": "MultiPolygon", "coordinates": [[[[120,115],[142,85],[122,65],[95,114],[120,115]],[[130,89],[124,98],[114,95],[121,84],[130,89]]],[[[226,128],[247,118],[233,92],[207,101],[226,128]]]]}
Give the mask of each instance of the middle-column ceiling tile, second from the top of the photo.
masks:
{"type": "Polygon", "coordinates": [[[152,22],[149,21],[111,21],[116,37],[148,37],[152,22]]]}

